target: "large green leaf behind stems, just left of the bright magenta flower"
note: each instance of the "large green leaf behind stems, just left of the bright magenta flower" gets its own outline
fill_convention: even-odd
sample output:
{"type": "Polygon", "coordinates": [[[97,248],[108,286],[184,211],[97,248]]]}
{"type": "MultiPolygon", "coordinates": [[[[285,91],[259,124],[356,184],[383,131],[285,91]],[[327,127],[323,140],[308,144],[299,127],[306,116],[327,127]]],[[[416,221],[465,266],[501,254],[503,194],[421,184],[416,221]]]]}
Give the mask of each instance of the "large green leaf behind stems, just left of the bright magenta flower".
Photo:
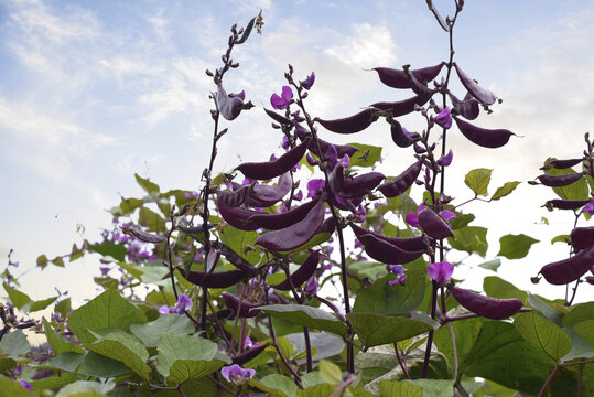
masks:
{"type": "Polygon", "coordinates": [[[404,286],[388,285],[388,281],[392,279],[393,276],[389,275],[361,289],[355,299],[353,311],[403,314],[417,309],[425,294],[426,271],[407,270],[404,286]]]}

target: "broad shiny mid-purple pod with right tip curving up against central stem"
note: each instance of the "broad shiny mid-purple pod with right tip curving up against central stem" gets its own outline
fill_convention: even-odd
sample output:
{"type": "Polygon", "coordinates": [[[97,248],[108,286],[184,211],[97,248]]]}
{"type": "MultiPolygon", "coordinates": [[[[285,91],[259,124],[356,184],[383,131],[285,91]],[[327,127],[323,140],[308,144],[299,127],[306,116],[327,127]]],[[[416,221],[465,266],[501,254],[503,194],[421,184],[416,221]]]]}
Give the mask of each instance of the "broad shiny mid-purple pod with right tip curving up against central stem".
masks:
{"type": "Polygon", "coordinates": [[[320,200],[303,221],[290,227],[261,235],[256,240],[256,244],[276,251],[295,249],[315,235],[323,221],[324,202],[320,200]]]}

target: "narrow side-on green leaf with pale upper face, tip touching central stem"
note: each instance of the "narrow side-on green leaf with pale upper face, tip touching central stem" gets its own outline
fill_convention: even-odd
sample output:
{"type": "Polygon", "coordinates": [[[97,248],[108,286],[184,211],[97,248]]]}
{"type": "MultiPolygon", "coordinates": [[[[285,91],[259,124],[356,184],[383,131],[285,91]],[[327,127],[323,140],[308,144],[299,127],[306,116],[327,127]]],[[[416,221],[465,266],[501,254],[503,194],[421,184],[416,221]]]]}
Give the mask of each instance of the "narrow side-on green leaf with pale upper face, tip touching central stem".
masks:
{"type": "Polygon", "coordinates": [[[345,335],[347,331],[345,323],[336,315],[322,309],[303,304],[270,304],[259,309],[273,318],[310,329],[328,331],[341,336],[345,335]]]}

